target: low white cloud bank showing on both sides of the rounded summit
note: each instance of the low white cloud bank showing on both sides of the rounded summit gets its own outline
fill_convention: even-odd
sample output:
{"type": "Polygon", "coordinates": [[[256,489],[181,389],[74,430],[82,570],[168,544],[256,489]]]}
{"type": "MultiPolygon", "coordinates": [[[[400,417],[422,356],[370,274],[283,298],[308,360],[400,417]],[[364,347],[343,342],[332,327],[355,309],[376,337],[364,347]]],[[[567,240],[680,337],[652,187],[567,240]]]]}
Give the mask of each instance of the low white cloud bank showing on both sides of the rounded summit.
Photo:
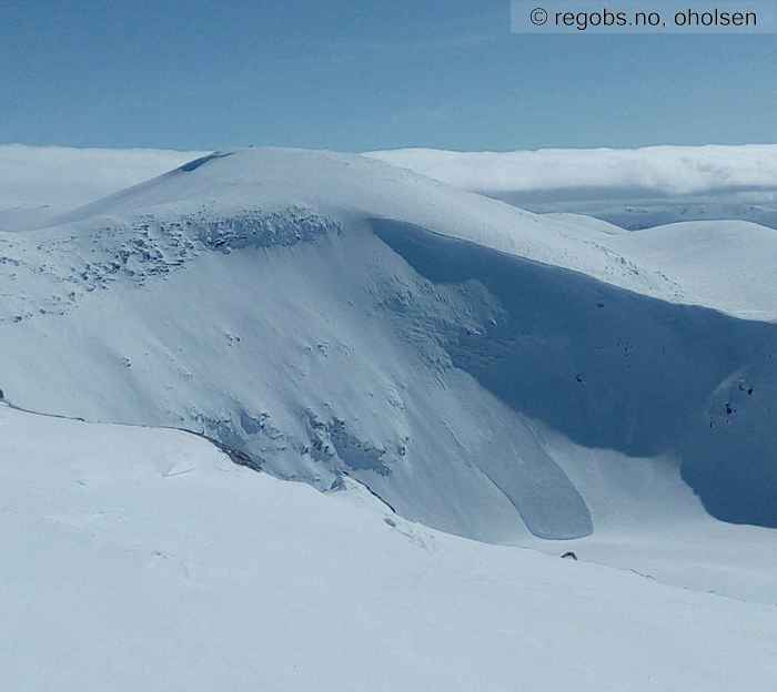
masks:
{"type": "MultiPolygon", "coordinates": [[[[203,155],[199,151],[0,145],[0,210],[73,207],[203,155]]],[[[522,205],[771,191],[777,144],[366,154],[456,187],[522,205]]],[[[763,200],[763,195],[758,195],[763,200]]]]}

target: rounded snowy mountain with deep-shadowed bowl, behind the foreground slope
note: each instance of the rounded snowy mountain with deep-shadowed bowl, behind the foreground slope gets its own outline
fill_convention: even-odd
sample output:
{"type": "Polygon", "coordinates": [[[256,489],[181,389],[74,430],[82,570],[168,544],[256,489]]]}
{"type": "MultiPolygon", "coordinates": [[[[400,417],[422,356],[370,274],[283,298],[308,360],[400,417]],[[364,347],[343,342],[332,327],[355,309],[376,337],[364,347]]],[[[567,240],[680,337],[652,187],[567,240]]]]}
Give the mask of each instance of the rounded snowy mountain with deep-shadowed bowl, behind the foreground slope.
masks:
{"type": "Polygon", "coordinates": [[[622,235],[362,156],[208,156],[0,235],[0,386],[474,538],[617,521],[628,481],[574,480],[579,448],[660,465],[650,517],[703,516],[684,479],[777,526],[777,327],[738,313],[771,318],[774,286],[739,299],[622,235]]]}

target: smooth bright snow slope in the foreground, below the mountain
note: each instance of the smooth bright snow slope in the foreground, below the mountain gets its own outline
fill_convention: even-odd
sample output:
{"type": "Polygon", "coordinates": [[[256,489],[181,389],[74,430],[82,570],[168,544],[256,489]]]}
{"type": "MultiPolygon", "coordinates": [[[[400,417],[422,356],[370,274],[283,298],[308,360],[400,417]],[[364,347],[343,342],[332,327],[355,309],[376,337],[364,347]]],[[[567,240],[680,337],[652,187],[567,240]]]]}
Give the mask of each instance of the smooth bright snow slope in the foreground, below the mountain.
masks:
{"type": "Polygon", "coordinates": [[[173,430],[0,405],[0,684],[768,689],[775,607],[467,541],[173,430]]]}

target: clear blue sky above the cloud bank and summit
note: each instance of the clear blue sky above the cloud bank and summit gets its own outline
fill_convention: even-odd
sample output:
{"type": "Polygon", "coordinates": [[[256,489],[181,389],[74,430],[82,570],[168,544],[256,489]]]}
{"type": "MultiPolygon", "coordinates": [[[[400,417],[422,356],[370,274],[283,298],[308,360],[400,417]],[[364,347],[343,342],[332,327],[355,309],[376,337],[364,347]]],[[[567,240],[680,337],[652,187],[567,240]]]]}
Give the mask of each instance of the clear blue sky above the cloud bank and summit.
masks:
{"type": "Polygon", "coordinates": [[[775,35],[514,35],[508,0],[0,0],[0,142],[777,142],[775,35]]]}

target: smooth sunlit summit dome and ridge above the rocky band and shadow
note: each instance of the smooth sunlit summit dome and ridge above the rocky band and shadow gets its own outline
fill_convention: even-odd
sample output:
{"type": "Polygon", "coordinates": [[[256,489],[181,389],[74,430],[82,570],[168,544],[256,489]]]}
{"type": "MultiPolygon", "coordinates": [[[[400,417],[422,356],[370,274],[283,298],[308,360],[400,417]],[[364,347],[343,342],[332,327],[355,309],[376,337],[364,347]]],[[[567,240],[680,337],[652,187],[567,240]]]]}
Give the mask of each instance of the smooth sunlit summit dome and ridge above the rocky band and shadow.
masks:
{"type": "MultiPolygon", "coordinates": [[[[206,156],[196,169],[174,170],[72,212],[54,222],[64,227],[79,220],[104,217],[105,226],[128,218],[167,218],[175,226],[196,225],[208,234],[212,223],[229,225],[246,215],[296,214],[320,210],[337,220],[387,217],[446,235],[485,244],[546,264],[581,271],[615,285],[666,299],[697,302],[660,265],[642,262],[638,246],[622,252],[619,241],[591,224],[537,216],[508,208],[481,195],[465,194],[411,171],[362,156],[303,150],[245,150],[231,156],[206,156]],[[208,217],[221,221],[206,221],[208,217]]],[[[299,220],[295,221],[297,223],[299,220]]],[[[81,233],[81,232],[79,232],[81,233]]],[[[628,244],[624,242],[624,245],[628,244]]],[[[759,282],[756,282],[759,284],[759,282]]],[[[728,294],[726,294],[728,295],[728,294]]],[[[727,309],[718,296],[706,303],[727,309]]],[[[761,302],[770,302],[768,294],[761,302]]],[[[765,309],[761,309],[765,312],[765,309]]],[[[768,311],[767,311],[768,312],[768,311]]]]}

